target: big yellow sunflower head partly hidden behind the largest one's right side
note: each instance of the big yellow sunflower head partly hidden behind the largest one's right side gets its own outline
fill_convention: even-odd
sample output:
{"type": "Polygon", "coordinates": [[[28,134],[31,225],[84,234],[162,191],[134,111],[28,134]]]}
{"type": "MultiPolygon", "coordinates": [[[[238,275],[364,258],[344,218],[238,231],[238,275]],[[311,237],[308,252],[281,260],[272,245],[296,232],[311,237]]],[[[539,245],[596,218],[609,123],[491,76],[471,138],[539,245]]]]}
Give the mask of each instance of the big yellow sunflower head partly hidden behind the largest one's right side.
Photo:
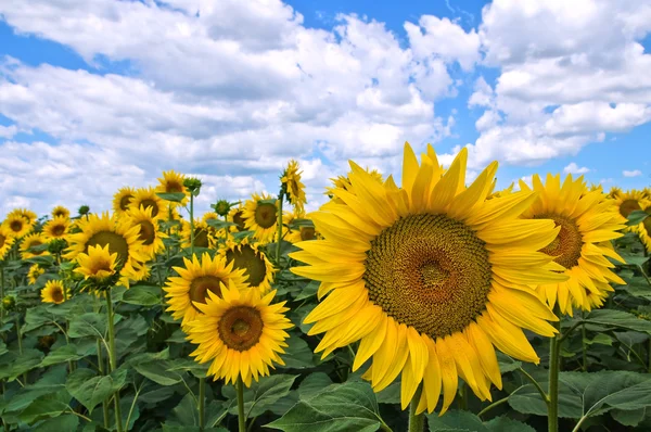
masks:
{"type": "MultiPolygon", "coordinates": [[[[551,219],[560,228],[559,236],[540,251],[563,266],[566,281],[538,284],[539,297],[550,307],[558,303],[562,314],[572,315],[573,306],[590,310],[600,306],[610,291],[609,282],[625,282],[610,270],[615,265],[612,257],[624,263],[614,251],[601,245],[623,234],[625,221],[613,200],[605,199],[601,190],[588,191],[583,177],[576,180],[567,175],[547,175],[542,185],[540,177],[533,177],[533,190],[538,192],[536,201],[523,213],[526,219],[551,219]]],[[[522,190],[531,190],[520,181],[522,190]]]]}

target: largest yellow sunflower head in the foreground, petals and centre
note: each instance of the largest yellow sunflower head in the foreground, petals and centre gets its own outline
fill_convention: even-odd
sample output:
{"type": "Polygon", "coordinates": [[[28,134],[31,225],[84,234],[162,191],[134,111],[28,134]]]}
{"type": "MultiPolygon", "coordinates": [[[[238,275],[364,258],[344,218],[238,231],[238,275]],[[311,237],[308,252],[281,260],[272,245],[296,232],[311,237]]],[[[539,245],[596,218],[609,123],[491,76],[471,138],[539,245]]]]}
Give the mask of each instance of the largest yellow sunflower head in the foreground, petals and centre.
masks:
{"type": "Polygon", "coordinates": [[[465,187],[468,151],[444,171],[430,145],[418,160],[405,144],[403,187],[381,183],[350,162],[349,190],[334,190],[312,220],[324,240],[297,243],[292,271],[321,281],[328,296],[306,318],[309,334],[326,332],[317,352],[360,341],[353,369],[381,391],[401,372],[405,408],[419,384],[418,412],[445,412],[463,379],[481,399],[501,387],[494,346],[538,363],[522,328],[545,336],[558,320],[528,284],[565,280],[563,268],[537,252],[558,234],[551,220],[519,219],[535,194],[486,201],[492,163],[465,187]]]}

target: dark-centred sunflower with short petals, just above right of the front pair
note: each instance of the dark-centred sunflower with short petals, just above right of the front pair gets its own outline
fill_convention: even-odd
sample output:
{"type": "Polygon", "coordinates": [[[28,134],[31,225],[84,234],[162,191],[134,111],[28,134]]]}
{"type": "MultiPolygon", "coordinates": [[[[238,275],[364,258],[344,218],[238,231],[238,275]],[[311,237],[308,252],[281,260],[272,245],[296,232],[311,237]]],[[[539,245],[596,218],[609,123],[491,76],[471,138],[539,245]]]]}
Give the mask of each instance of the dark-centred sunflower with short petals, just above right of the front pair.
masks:
{"type": "Polygon", "coordinates": [[[219,255],[226,257],[226,264],[233,264],[233,268],[244,270],[246,283],[266,293],[271,289],[276,269],[267,255],[259,249],[259,243],[250,243],[244,239],[239,243],[228,240],[219,249],[219,255]]]}

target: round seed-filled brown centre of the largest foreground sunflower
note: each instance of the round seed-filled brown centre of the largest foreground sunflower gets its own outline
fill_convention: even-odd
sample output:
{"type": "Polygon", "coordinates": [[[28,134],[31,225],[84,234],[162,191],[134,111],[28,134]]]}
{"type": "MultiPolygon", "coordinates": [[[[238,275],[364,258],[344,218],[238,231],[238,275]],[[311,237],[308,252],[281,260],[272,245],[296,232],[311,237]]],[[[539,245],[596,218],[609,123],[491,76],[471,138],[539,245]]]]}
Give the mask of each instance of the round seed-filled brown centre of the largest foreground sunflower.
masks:
{"type": "Polygon", "coordinates": [[[493,271],[485,243],[445,215],[411,215],[367,252],[369,298],[432,338],[462,331],[486,308],[493,271]]]}

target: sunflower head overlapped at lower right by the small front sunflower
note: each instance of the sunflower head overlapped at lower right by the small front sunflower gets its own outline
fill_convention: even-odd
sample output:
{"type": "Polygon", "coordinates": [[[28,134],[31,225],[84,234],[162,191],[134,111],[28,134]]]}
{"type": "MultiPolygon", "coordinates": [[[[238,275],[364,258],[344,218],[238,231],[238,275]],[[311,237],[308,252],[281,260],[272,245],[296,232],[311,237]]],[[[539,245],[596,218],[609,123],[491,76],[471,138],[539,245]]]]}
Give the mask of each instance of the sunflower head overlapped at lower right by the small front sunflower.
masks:
{"type": "Polygon", "coordinates": [[[226,264],[226,258],[215,256],[210,258],[204,253],[201,261],[196,255],[192,261],[183,257],[184,267],[173,267],[178,277],[167,279],[163,290],[167,293],[168,312],[174,319],[181,319],[181,326],[193,321],[201,310],[197,303],[206,303],[207,292],[221,295],[221,284],[232,280],[238,287],[246,287],[244,270],[233,269],[232,264],[226,264]],[[194,302],[194,303],[192,303],[194,302]]]}

